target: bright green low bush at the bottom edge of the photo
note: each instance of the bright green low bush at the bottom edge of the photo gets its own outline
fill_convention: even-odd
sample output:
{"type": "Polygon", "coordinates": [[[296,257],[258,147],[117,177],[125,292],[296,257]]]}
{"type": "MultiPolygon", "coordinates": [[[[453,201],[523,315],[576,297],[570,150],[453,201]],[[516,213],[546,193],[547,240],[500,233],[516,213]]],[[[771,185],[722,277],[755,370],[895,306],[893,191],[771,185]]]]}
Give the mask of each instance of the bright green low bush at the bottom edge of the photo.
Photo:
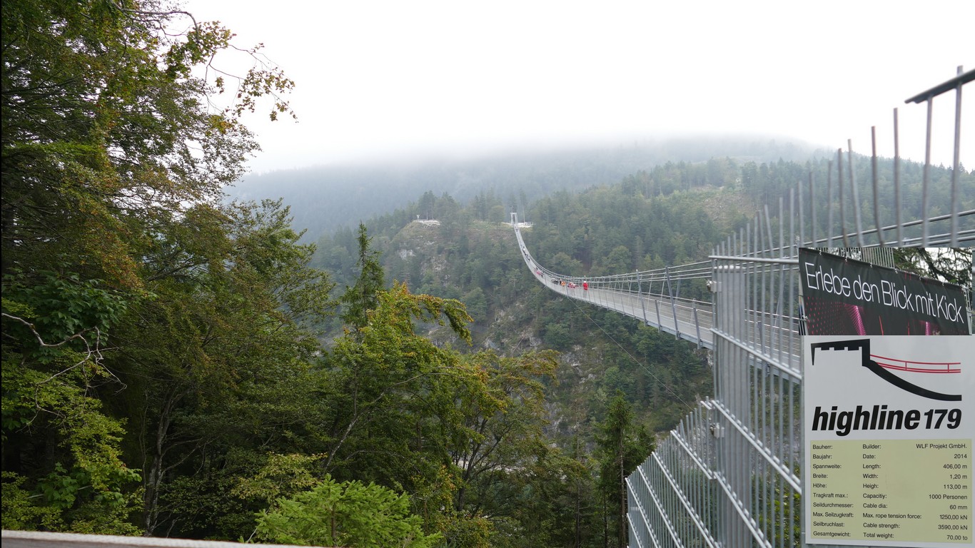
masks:
{"type": "Polygon", "coordinates": [[[257,518],[257,536],[286,544],[423,548],[438,533],[424,534],[409,514],[409,495],[370,483],[325,478],[309,491],[281,498],[257,518]]]}

